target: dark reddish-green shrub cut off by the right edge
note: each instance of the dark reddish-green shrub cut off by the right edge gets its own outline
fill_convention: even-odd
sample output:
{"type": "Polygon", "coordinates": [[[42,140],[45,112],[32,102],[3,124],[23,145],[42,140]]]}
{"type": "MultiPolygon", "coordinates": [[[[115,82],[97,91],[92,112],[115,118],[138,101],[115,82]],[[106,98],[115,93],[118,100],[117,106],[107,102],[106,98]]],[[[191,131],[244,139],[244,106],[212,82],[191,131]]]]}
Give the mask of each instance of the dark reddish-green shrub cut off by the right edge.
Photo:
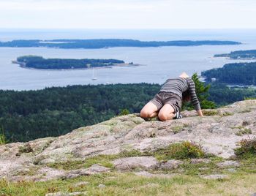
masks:
{"type": "Polygon", "coordinates": [[[236,155],[253,154],[256,155],[256,137],[244,139],[239,142],[240,147],[235,149],[236,155]]]}

